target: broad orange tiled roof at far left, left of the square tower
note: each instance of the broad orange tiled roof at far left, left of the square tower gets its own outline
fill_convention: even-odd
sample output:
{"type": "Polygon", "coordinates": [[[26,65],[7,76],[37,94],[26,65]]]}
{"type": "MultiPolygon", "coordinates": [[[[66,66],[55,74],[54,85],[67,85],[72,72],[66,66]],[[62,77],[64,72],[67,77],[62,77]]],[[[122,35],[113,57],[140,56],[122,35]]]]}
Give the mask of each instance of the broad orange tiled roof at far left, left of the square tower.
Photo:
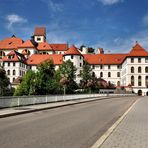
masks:
{"type": "Polygon", "coordinates": [[[21,38],[17,38],[12,36],[11,38],[5,38],[4,40],[0,41],[0,49],[10,50],[10,49],[17,49],[23,43],[21,38]]]}

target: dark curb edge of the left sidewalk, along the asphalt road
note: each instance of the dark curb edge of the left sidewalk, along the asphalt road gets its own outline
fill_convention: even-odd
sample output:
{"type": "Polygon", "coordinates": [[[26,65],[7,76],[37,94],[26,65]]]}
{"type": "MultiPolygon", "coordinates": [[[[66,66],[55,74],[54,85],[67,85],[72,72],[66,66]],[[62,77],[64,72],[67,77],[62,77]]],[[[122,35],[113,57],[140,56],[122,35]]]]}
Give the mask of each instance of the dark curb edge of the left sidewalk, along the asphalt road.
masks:
{"type": "MultiPolygon", "coordinates": [[[[128,97],[128,96],[127,96],[128,97]]],[[[67,104],[62,104],[62,105],[57,105],[57,106],[49,106],[49,107],[44,107],[44,108],[39,108],[39,109],[30,109],[30,110],[25,110],[25,111],[20,111],[20,112],[13,112],[13,113],[8,113],[8,114],[2,114],[0,115],[0,118],[5,118],[5,117],[10,117],[10,116],[16,116],[16,115],[21,115],[21,114],[27,114],[27,113],[32,113],[32,112],[38,112],[42,110],[48,110],[48,109],[54,109],[54,108],[59,108],[59,107],[65,107],[65,106],[70,106],[70,105],[75,105],[75,104],[82,104],[82,103],[88,103],[88,102],[93,102],[93,101],[101,101],[101,100],[106,100],[110,98],[117,98],[117,97],[104,97],[97,99],[98,97],[94,97],[93,100],[73,100],[73,101],[80,101],[80,102],[72,102],[72,103],[67,103],[67,104]]],[[[72,101],[72,100],[71,100],[72,101]]]]}

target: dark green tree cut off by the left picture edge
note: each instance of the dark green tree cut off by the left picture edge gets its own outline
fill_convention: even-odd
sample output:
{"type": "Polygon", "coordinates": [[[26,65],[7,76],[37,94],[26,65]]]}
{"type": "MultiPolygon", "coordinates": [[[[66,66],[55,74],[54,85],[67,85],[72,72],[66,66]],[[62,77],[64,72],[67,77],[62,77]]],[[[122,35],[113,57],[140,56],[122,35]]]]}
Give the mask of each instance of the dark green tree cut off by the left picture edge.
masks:
{"type": "Polygon", "coordinates": [[[9,95],[10,92],[10,81],[6,76],[6,71],[0,67],[0,96],[9,95]]]}

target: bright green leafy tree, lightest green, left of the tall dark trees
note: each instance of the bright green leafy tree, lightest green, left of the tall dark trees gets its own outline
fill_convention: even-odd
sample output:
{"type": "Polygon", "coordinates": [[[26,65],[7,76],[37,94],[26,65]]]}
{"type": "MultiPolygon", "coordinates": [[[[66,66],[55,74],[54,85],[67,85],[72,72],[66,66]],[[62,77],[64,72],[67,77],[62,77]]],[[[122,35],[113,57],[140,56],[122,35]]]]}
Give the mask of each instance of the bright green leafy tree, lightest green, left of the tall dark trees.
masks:
{"type": "Polygon", "coordinates": [[[35,94],[35,78],[35,72],[29,70],[22,78],[22,82],[15,90],[14,95],[21,96],[35,94]]]}

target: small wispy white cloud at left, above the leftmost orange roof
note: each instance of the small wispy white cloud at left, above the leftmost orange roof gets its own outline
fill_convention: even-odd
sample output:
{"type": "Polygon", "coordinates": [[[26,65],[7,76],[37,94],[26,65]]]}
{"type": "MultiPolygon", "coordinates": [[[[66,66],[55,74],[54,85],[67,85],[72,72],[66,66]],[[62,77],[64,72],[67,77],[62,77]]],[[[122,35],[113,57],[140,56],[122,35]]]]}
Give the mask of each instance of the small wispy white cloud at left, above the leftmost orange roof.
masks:
{"type": "Polygon", "coordinates": [[[12,31],[13,30],[13,25],[14,24],[22,24],[22,23],[26,23],[27,19],[17,15],[17,14],[9,14],[6,16],[6,21],[7,23],[7,29],[12,31]]]}

